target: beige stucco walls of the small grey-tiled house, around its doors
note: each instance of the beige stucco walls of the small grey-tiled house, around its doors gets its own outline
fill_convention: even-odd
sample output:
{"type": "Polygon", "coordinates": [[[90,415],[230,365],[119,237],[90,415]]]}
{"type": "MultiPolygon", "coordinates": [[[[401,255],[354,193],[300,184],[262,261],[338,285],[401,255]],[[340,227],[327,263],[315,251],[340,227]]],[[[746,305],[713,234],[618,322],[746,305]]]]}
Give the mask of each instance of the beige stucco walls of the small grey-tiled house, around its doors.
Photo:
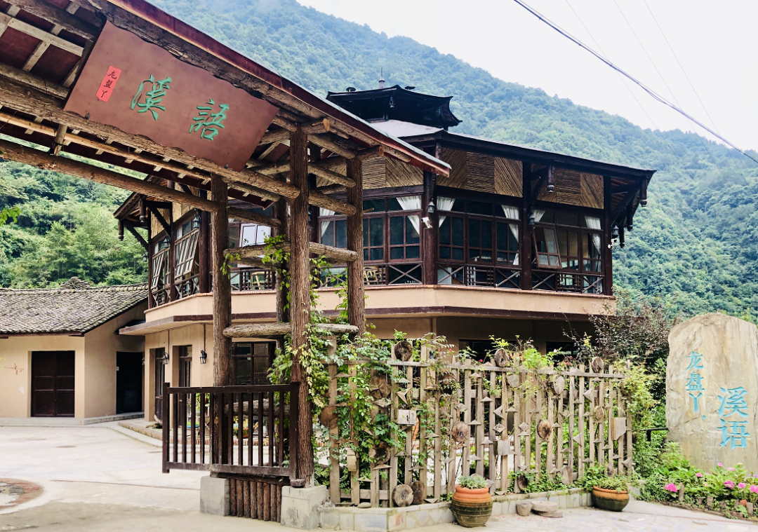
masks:
{"type": "Polygon", "coordinates": [[[142,352],[144,338],[115,334],[143,316],[146,303],[100,325],[84,336],[65,334],[0,338],[0,418],[31,415],[33,351],[74,351],[74,416],[116,413],[116,352],[142,352]]]}

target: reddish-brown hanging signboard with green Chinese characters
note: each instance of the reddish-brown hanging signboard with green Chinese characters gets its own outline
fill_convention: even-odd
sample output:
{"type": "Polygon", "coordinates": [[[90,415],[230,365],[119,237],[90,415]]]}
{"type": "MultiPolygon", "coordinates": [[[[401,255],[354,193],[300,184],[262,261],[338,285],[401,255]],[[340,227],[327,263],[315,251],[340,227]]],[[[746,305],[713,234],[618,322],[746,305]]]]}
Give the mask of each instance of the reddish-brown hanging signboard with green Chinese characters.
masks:
{"type": "Polygon", "coordinates": [[[277,107],[106,23],[65,110],[243,170],[277,107]]]}

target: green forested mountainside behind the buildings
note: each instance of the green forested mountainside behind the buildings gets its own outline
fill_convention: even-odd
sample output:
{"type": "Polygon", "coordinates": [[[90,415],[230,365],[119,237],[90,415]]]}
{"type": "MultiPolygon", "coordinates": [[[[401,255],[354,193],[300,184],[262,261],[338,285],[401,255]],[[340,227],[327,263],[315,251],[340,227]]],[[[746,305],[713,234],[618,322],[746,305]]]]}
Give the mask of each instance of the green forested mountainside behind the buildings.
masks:
{"type": "MultiPolygon", "coordinates": [[[[321,14],[294,0],[154,3],[319,95],[346,86],[374,88],[382,68],[390,85],[453,95],[451,107],[463,120],[456,131],[656,168],[648,207],[637,213],[627,247],[616,252],[615,282],[675,298],[692,313],[741,313],[758,303],[758,165],[735,151],[693,134],[641,129],[621,117],[495,79],[452,55],[411,39],[388,39],[368,26],[321,14]]],[[[105,213],[121,196],[71,181],[57,181],[62,192],[54,193],[49,183],[55,179],[49,175],[8,164],[0,168],[0,207],[20,201],[24,210],[21,227],[0,233],[2,285],[55,284],[70,275],[111,283],[144,275],[141,250],[130,235],[118,244],[115,229],[112,235],[105,230],[92,235],[99,240],[87,244],[102,257],[97,265],[83,266],[84,251],[73,249],[65,260],[45,258],[51,238],[63,242],[61,254],[63,247],[82,247],[93,218],[102,219],[97,222],[101,228],[110,224],[110,231],[114,223],[105,221],[105,213]],[[11,179],[18,172],[20,178],[47,184],[28,186],[28,199],[7,194],[5,184],[20,179],[11,179]],[[40,215],[37,205],[57,212],[61,222],[40,215]],[[9,231],[14,238],[10,245],[9,231]],[[98,247],[111,241],[114,249],[98,247]],[[108,264],[114,272],[106,272],[108,264]]]]}

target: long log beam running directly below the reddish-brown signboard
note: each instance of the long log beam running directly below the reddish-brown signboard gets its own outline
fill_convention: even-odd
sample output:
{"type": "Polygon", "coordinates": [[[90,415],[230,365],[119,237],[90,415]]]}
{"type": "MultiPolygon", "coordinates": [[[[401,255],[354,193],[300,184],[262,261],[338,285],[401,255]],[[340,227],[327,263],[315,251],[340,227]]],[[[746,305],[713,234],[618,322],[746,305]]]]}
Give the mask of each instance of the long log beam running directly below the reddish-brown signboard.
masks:
{"type": "Polygon", "coordinates": [[[0,79],[0,105],[42,118],[43,120],[65,124],[69,129],[79,129],[101,138],[109,138],[119,144],[156,154],[158,157],[168,158],[184,165],[193,166],[198,170],[221,176],[222,179],[227,181],[244,182],[248,185],[262,188],[265,191],[283,195],[286,198],[292,198],[296,194],[299,194],[299,191],[292,185],[276,181],[252,170],[235,172],[234,170],[218,166],[218,164],[210,160],[189,155],[179,148],[164,146],[153,142],[147,137],[130,135],[114,126],[92,122],[77,114],[68,113],[61,108],[61,102],[57,98],[19,86],[17,83],[8,81],[8,79],[0,79]]]}

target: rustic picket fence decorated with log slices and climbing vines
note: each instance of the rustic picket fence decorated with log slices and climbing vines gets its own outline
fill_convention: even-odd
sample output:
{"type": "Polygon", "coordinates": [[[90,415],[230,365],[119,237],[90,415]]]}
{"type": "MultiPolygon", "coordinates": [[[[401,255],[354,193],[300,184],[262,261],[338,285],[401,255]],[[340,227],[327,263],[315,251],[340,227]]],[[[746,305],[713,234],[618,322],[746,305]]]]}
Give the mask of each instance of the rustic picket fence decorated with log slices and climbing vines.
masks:
{"type": "MultiPolygon", "coordinates": [[[[407,350],[403,361],[396,347],[384,369],[366,361],[350,362],[341,373],[336,364],[328,366],[327,409],[333,416],[331,422],[322,418],[330,437],[321,462],[330,465],[335,504],[395,506],[399,484],[412,490],[414,504],[438,502],[462,474],[481,475],[490,481],[490,493],[505,494],[520,493],[546,474],[571,484],[593,465],[609,474],[631,472],[631,426],[619,389],[625,375],[606,370],[600,359],[590,369],[534,372],[495,362],[444,364],[430,359],[425,348],[419,362],[407,360],[407,350]],[[373,375],[374,413],[397,425],[389,446],[380,443],[370,456],[356,456],[353,381],[367,371],[373,375]],[[345,468],[349,487],[340,488],[345,468]]],[[[506,356],[495,359],[509,363],[506,356]]]]}

